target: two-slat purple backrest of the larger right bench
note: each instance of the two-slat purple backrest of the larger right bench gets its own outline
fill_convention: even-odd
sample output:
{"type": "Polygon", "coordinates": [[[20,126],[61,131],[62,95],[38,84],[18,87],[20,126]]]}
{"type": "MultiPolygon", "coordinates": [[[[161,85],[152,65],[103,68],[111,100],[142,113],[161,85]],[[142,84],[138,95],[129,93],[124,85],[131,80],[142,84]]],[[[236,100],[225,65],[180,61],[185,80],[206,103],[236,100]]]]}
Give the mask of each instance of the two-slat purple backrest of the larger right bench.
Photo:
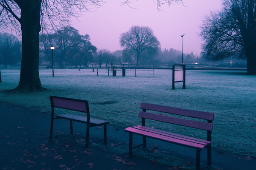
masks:
{"type": "Polygon", "coordinates": [[[143,111],[140,111],[139,113],[139,117],[143,118],[143,121],[142,121],[142,124],[144,124],[143,126],[145,126],[145,119],[151,119],[151,120],[157,120],[160,122],[167,122],[167,123],[172,123],[176,125],[183,125],[187,127],[207,130],[207,132],[212,131],[212,121],[214,118],[214,113],[192,111],[192,110],[180,109],[180,108],[172,108],[169,106],[154,105],[154,104],[148,104],[148,103],[141,103],[140,108],[143,109],[143,111]],[[200,121],[176,118],[172,116],[148,113],[146,112],[146,110],[159,111],[163,113],[172,113],[176,115],[187,116],[187,117],[198,118],[198,119],[205,119],[207,120],[207,122],[200,122],[200,121]]]}

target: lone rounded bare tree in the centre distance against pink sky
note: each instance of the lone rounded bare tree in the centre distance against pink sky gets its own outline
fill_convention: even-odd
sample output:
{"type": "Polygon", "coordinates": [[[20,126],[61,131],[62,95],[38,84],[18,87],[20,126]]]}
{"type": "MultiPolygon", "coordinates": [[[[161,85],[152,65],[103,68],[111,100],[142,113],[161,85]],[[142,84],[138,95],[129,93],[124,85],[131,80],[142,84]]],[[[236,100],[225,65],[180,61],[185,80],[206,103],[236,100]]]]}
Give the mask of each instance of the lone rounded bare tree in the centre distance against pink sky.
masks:
{"type": "Polygon", "coordinates": [[[149,27],[132,26],[128,32],[121,34],[119,41],[125,51],[136,54],[137,65],[141,56],[155,55],[160,48],[160,42],[149,27]]]}

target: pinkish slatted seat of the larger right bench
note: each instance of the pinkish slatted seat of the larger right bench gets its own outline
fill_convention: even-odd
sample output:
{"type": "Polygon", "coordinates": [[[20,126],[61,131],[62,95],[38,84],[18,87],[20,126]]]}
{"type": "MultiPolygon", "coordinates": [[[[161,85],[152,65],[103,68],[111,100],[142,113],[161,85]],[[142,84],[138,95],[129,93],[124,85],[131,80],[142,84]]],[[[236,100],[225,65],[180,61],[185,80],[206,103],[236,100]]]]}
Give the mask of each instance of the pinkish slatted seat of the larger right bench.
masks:
{"type": "Polygon", "coordinates": [[[166,132],[164,130],[158,130],[152,127],[145,127],[141,125],[127,127],[125,131],[169,143],[178,144],[181,146],[191,147],[197,150],[203,150],[205,147],[211,145],[210,141],[192,138],[189,136],[184,136],[176,133],[166,132]]]}

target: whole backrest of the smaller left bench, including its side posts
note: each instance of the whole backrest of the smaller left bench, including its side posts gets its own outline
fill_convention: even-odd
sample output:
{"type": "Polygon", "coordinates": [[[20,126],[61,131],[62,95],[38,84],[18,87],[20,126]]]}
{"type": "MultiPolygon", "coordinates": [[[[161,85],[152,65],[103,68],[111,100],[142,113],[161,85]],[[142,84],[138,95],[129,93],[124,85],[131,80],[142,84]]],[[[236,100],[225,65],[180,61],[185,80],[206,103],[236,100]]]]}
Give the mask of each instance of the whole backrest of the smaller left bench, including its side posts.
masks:
{"type": "Polygon", "coordinates": [[[87,113],[87,119],[90,119],[90,110],[87,100],[73,99],[60,96],[50,96],[50,100],[52,106],[52,114],[54,114],[54,107],[64,108],[72,111],[80,111],[87,113]]]}

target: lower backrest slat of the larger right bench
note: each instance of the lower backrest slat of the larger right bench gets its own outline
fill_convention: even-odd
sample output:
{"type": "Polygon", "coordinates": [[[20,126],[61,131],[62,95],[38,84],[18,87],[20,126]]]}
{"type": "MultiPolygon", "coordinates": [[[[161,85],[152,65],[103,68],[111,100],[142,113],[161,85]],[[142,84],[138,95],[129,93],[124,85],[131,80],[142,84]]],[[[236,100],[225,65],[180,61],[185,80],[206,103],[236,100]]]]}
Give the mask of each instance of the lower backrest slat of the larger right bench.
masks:
{"type": "Polygon", "coordinates": [[[212,131],[212,123],[180,119],[180,118],[176,118],[176,117],[148,113],[148,112],[143,112],[143,111],[140,111],[139,117],[151,119],[151,120],[157,120],[160,122],[167,122],[167,123],[172,123],[172,124],[176,124],[176,125],[183,125],[183,126],[187,126],[187,127],[193,127],[193,128],[198,128],[198,129],[202,129],[202,130],[212,131]]]}

